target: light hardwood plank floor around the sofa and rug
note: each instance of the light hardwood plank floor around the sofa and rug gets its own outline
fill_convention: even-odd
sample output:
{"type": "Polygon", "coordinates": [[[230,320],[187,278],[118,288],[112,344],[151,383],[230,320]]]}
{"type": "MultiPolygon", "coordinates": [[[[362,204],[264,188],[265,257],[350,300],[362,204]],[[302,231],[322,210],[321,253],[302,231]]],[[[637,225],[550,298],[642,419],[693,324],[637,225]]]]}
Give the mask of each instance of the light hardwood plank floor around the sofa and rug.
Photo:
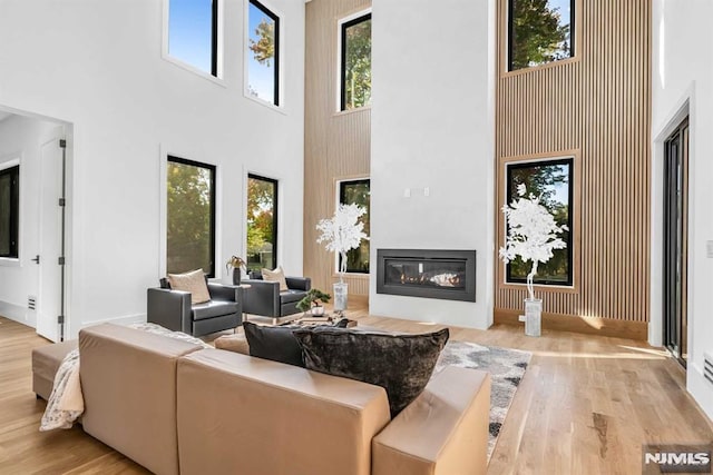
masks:
{"type": "MultiPolygon", "coordinates": [[[[350,317],[399,331],[441,327],[364,310],[350,317]]],[[[642,444],[713,442],[683,369],[641,342],[560,331],[531,338],[507,325],[450,330],[451,339],[533,353],[488,474],[638,474],[642,444]]],[[[0,474],[147,473],[81,428],[38,432],[45,402],[31,392],[30,353],[47,344],[0,317],[0,474]]]]}

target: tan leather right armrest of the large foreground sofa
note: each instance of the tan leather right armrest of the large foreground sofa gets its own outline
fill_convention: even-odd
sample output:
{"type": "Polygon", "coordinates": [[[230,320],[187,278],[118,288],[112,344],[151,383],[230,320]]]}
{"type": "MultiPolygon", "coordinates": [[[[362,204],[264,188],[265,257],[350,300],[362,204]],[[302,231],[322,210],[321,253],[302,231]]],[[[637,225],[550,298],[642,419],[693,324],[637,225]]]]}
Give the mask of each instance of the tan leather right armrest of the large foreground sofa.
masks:
{"type": "Polygon", "coordinates": [[[485,474],[490,375],[447,366],[372,441],[373,475],[485,474]]]}

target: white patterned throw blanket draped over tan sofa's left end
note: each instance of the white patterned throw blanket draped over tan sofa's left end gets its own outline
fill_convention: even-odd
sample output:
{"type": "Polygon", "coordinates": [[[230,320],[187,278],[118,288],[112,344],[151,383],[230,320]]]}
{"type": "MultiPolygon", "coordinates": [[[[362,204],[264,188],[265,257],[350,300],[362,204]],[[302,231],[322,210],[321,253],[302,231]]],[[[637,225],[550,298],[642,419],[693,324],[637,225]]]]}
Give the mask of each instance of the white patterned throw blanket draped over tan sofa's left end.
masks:
{"type": "MultiPolygon", "coordinates": [[[[204,348],[212,348],[205,342],[186,335],[180,331],[172,331],[156,324],[134,324],[131,328],[164,335],[169,338],[201,345],[204,348]]],[[[40,431],[51,431],[56,428],[71,428],[75,420],[85,412],[85,399],[81,395],[81,384],[79,383],[79,350],[69,352],[62,359],[55,383],[52,393],[47,402],[45,414],[40,423],[40,431]]]]}

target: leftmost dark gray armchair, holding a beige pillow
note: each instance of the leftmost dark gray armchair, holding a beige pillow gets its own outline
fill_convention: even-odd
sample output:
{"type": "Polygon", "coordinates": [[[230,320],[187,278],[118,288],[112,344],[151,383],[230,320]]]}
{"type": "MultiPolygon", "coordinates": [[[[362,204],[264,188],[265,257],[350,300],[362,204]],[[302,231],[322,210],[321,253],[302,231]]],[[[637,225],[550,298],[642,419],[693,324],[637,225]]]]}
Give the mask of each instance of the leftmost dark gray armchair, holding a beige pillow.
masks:
{"type": "Polygon", "coordinates": [[[147,320],[193,336],[235,329],[243,323],[243,289],[208,283],[211,300],[191,305],[191,293],[173,290],[166,279],[147,293],[147,320]]]}

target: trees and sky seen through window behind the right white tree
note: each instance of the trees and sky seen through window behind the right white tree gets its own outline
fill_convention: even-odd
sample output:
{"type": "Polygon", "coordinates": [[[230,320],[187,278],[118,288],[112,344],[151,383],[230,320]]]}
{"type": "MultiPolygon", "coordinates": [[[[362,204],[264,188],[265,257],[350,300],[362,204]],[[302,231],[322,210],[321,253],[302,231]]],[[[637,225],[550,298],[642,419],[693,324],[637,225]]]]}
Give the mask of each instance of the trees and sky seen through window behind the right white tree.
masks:
{"type": "MultiPolygon", "coordinates": [[[[517,186],[525,185],[528,192],[540,197],[540,202],[555,216],[557,226],[568,225],[569,202],[561,202],[555,195],[556,188],[570,186],[568,165],[541,165],[534,164],[531,167],[514,168],[510,170],[511,196],[508,202],[517,197],[517,186]]],[[[569,243],[572,229],[561,232],[560,238],[569,243]]],[[[568,249],[555,249],[553,257],[537,267],[535,284],[549,281],[560,281],[566,284],[569,277],[569,251],[568,249]]],[[[531,263],[524,263],[519,257],[508,264],[510,266],[510,277],[525,279],[529,274],[531,263]]]]}

